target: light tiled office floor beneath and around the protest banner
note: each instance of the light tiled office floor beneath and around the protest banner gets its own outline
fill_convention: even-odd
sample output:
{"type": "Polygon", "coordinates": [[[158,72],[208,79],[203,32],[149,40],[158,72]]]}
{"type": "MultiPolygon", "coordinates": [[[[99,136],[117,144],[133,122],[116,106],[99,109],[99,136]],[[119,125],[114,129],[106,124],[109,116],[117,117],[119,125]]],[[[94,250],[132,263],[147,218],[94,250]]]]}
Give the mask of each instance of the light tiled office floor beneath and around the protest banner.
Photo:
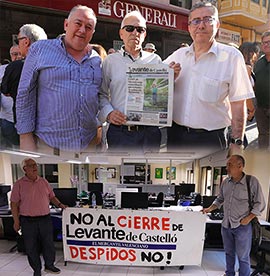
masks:
{"type": "MultiPolygon", "coordinates": [[[[28,265],[25,255],[18,252],[9,252],[15,244],[14,241],[0,240],[0,276],[32,276],[33,272],[28,265]]],[[[68,262],[64,265],[61,243],[56,243],[57,258],[56,266],[62,270],[63,276],[220,276],[224,273],[225,257],[223,250],[204,250],[201,267],[185,266],[183,270],[179,267],[129,267],[129,266],[104,266],[85,265],[68,262]]],[[[46,275],[43,272],[42,275],[46,275]]],[[[49,274],[47,274],[49,275],[49,274]]]]}

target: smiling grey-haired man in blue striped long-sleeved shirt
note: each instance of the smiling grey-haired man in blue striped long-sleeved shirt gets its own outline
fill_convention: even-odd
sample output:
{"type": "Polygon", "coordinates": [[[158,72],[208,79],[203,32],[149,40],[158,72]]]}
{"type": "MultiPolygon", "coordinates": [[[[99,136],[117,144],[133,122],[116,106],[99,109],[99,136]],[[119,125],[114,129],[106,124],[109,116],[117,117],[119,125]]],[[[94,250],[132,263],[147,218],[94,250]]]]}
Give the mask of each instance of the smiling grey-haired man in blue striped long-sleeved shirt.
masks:
{"type": "Polygon", "coordinates": [[[64,35],[29,49],[16,102],[21,149],[81,151],[95,141],[101,59],[89,42],[96,22],[91,8],[75,6],[64,35]]]}

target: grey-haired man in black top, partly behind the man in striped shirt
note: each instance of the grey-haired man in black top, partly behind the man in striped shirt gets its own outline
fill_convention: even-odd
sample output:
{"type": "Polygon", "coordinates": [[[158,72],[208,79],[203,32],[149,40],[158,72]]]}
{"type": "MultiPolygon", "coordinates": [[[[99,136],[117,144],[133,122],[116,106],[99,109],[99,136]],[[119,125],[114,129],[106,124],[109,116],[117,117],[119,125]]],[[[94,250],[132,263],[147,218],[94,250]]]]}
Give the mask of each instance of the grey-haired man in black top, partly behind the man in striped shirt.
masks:
{"type": "Polygon", "coordinates": [[[13,115],[15,124],[17,121],[15,103],[24,60],[28,54],[30,46],[40,39],[47,39],[45,31],[40,26],[36,24],[25,24],[20,28],[19,34],[14,42],[19,47],[22,59],[11,62],[7,66],[1,83],[1,92],[13,98],[13,115]]]}

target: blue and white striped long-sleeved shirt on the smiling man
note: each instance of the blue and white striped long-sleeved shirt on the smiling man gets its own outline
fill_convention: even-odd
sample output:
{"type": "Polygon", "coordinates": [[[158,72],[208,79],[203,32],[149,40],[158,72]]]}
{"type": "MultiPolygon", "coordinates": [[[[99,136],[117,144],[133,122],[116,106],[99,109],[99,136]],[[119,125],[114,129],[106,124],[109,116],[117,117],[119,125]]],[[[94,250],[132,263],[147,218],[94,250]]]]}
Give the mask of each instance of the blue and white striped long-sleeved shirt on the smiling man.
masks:
{"type": "Polygon", "coordinates": [[[78,63],[61,38],[35,42],[18,88],[18,133],[33,132],[62,150],[85,149],[96,135],[101,81],[101,59],[94,50],[78,63]]]}

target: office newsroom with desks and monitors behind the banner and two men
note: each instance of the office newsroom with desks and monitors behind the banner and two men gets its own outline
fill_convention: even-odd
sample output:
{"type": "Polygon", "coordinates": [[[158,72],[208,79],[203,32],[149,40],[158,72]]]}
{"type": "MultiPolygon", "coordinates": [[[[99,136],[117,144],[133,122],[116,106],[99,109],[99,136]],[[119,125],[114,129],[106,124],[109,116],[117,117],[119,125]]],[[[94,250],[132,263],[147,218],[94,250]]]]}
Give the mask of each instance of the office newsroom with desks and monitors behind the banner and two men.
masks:
{"type": "MultiPolygon", "coordinates": [[[[1,209],[9,210],[12,184],[23,176],[20,162],[26,156],[19,153],[0,153],[1,209]]],[[[226,151],[210,154],[203,151],[159,153],[137,157],[134,154],[110,156],[107,153],[81,156],[78,160],[67,159],[71,155],[33,156],[39,164],[39,175],[49,181],[59,200],[69,207],[208,207],[227,176],[226,151]]],[[[262,186],[268,206],[262,219],[269,221],[269,152],[246,150],[244,157],[245,172],[256,176],[262,186]]],[[[55,206],[51,208],[55,209],[55,206]]],[[[218,213],[217,218],[222,218],[222,209],[215,212],[218,213]]]]}

